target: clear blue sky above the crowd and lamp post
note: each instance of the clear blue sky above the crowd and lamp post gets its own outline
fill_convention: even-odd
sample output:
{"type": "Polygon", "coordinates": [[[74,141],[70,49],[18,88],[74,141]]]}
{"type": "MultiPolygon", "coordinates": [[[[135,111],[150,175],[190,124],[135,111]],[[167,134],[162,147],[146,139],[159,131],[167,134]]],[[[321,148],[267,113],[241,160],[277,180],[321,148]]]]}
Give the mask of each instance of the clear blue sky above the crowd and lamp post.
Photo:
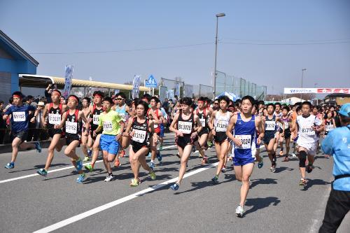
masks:
{"type": "Polygon", "coordinates": [[[273,94],[300,87],[302,68],[304,87],[350,87],[346,0],[1,0],[0,29],[38,60],[38,74],[64,76],[73,64],[78,79],[124,83],[152,73],[211,85],[221,12],[219,71],[273,94]],[[159,49],[178,45],[190,46],[159,49]],[[55,52],[64,54],[47,54],[55,52]]]}

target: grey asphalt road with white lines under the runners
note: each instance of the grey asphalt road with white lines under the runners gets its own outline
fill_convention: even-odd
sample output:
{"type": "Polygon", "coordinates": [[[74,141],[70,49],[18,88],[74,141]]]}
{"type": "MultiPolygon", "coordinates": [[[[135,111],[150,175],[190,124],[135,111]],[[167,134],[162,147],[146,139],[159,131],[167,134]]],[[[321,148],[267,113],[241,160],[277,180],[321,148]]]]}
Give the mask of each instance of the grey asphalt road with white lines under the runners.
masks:
{"type": "MultiPolygon", "coordinates": [[[[220,183],[212,185],[214,149],[207,150],[214,165],[202,166],[198,153],[191,156],[190,176],[174,192],[169,184],[179,176],[179,159],[172,134],[166,135],[164,147],[162,164],[155,169],[157,179],[152,181],[141,168],[137,188],[129,186],[128,157],[120,159],[122,167],[113,169],[115,181],[104,182],[106,171],[98,162],[78,184],[78,175],[62,152],[55,152],[46,178],[35,174],[44,167],[47,149],[20,152],[11,170],[3,168],[10,153],[0,154],[0,232],[318,232],[330,192],[332,158],[316,156],[316,168],[307,174],[304,188],[298,185],[297,159],[279,158],[272,173],[264,150],[264,167],[255,164],[251,176],[245,216],[237,218],[241,184],[228,167],[220,183]]],[[[83,157],[80,148],[78,155],[83,157]]],[[[338,232],[349,229],[348,213],[338,232]]]]}

